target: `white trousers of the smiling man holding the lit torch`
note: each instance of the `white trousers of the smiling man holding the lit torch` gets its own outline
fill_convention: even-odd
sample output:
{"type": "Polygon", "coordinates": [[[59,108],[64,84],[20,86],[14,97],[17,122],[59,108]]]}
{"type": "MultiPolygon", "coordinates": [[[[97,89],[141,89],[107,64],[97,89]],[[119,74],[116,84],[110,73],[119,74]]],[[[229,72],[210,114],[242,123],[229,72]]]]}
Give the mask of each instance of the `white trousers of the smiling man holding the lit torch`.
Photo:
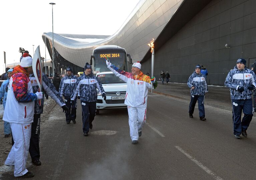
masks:
{"type": "Polygon", "coordinates": [[[146,123],[147,108],[134,108],[127,106],[129,115],[130,136],[132,140],[139,139],[139,132],[141,132],[146,123]]]}

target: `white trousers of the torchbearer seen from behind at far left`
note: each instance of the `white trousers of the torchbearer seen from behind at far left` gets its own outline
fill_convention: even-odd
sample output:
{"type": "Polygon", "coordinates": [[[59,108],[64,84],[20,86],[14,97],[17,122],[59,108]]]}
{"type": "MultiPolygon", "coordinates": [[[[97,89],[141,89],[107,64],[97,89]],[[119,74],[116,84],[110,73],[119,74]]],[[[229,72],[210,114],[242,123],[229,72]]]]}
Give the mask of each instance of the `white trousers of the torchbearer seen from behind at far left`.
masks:
{"type": "Polygon", "coordinates": [[[31,136],[31,123],[10,123],[14,145],[5,161],[5,165],[14,166],[14,176],[22,176],[28,172],[26,162],[31,136]]]}

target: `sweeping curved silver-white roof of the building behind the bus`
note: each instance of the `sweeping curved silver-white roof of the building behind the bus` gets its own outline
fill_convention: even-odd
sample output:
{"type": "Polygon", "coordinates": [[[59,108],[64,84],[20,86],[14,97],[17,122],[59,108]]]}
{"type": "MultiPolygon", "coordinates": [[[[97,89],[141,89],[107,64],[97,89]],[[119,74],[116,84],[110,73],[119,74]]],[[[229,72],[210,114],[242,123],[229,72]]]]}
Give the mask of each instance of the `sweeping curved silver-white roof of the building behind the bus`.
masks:
{"type": "MultiPolygon", "coordinates": [[[[97,35],[62,34],[60,36],[54,33],[54,48],[63,58],[80,67],[84,67],[90,59],[92,50],[100,45],[118,45],[131,54],[134,62],[141,61],[150,48],[148,43],[152,38],[157,39],[183,1],[141,0],[115,34],[103,39],[97,35]],[[101,40],[86,43],[63,36],[69,38],[92,36],[101,40]]],[[[43,41],[45,37],[49,42],[52,41],[51,32],[42,35],[43,41]]],[[[46,45],[51,54],[49,43],[46,45]]]]}

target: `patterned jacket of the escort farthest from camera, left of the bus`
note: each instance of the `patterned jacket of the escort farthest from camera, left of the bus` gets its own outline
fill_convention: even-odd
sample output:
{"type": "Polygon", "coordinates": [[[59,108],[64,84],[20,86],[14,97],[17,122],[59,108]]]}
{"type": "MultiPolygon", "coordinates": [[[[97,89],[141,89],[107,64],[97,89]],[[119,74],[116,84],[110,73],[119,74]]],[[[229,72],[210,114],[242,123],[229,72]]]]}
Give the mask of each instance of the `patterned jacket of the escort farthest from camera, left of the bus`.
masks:
{"type": "Polygon", "coordinates": [[[65,77],[63,77],[59,85],[59,94],[70,97],[74,91],[76,81],[77,77],[74,75],[66,75],[65,77]]]}

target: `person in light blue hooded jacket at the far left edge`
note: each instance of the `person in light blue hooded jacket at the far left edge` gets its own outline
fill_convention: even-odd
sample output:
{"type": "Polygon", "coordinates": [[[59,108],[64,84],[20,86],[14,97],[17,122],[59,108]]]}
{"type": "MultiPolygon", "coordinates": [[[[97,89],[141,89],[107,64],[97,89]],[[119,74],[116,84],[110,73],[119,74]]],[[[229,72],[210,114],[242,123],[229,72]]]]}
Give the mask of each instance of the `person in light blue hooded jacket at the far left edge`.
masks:
{"type": "MultiPolygon", "coordinates": [[[[9,69],[7,71],[7,80],[5,80],[1,87],[0,87],[0,99],[3,98],[3,106],[5,109],[5,105],[6,105],[6,98],[7,98],[7,91],[8,91],[8,85],[9,85],[9,79],[12,76],[12,71],[13,69],[9,69]]],[[[11,127],[10,127],[10,123],[8,123],[7,121],[4,121],[4,137],[9,137],[9,135],[11,134],[11,127]]]]}

